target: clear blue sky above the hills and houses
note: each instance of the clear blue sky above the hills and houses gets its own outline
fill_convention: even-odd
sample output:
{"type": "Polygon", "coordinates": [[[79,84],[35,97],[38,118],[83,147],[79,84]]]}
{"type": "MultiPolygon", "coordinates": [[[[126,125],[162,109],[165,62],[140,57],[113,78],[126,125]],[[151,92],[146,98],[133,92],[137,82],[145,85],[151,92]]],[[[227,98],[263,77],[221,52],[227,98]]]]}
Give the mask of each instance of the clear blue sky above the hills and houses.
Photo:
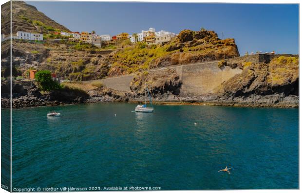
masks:
{"type": "Polygon", "coordinates": [[[71,31],[115,35],[149,27],[175,33],[204,27],[234,38],[241,55],[299,52],[298,4],[26,2],[71,31]]]}

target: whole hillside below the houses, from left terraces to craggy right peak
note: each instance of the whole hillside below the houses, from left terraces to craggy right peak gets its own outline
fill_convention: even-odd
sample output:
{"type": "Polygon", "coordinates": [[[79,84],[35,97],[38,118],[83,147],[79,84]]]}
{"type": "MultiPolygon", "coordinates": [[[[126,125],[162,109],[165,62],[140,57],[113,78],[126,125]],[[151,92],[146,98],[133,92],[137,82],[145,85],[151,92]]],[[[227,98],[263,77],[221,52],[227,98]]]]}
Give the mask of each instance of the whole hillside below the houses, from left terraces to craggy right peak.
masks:
{"type": "MultiPolygon", "coordinates": [[[[5,42],[3,42],[5,44],[5,42]]],[[[96,80],[162,66],[198,63],[239,56],[234,39],[221,40],[212,31],[185,30],[162,45],[116,42],[115,49],[88,43],[13,40],[13,65],[26,78],[28,69],[48,69],[68,80],[96,80]]],[[[1,52],[2,65],[9,64],[9,49],[1,52]]]]}

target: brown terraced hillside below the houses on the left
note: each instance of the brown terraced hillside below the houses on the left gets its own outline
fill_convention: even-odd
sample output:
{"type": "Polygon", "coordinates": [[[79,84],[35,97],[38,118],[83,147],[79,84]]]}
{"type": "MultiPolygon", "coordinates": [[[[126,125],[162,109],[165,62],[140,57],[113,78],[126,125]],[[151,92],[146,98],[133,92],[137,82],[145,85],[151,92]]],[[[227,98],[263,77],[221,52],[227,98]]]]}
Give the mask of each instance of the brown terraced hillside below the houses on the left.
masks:
{"type": "MultiPolygon", "coordinates": [[[[8,44],[3,42],[3,45],[8,44]]],[[[2,66],[9,66],[9,46],[1,50],[2,66]]],[[[30,69],[50,70],[67,80],[95,80],[107,76],[108,55],[112,50],[97,50],[90,44],[75,42],[30,43],[13,40],[12,64],[28,78],[30,69]]],[[[5,68],[2,68],[2,73],[5,68]]]]}

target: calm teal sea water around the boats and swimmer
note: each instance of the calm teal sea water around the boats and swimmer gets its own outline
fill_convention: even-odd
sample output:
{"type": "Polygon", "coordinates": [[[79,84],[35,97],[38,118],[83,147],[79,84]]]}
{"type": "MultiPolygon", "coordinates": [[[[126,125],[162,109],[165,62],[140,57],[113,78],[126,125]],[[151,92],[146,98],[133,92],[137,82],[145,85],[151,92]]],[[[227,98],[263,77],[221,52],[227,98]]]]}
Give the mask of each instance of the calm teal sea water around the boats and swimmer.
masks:
{"type": "Polygon", "coordinates": [[[13,110],[13,188],[299,188],[298,109],[135,106],[13,110]]]}

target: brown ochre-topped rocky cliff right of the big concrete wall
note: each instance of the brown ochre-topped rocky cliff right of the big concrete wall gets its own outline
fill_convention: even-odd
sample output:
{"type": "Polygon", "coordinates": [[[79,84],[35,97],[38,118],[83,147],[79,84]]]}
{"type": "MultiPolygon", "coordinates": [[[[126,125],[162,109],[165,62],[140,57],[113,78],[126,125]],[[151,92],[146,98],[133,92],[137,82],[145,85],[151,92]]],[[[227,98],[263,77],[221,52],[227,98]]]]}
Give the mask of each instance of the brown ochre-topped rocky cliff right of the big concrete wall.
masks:
{"type": "Polygon", "coordinates": [[[241,74],[224,82],[219,91],[225,96],[250,96],[299,94],[299,58],[280,56],[270,63],[236,62],[229,60],[224,65],[242,68],[241,74]]]}

